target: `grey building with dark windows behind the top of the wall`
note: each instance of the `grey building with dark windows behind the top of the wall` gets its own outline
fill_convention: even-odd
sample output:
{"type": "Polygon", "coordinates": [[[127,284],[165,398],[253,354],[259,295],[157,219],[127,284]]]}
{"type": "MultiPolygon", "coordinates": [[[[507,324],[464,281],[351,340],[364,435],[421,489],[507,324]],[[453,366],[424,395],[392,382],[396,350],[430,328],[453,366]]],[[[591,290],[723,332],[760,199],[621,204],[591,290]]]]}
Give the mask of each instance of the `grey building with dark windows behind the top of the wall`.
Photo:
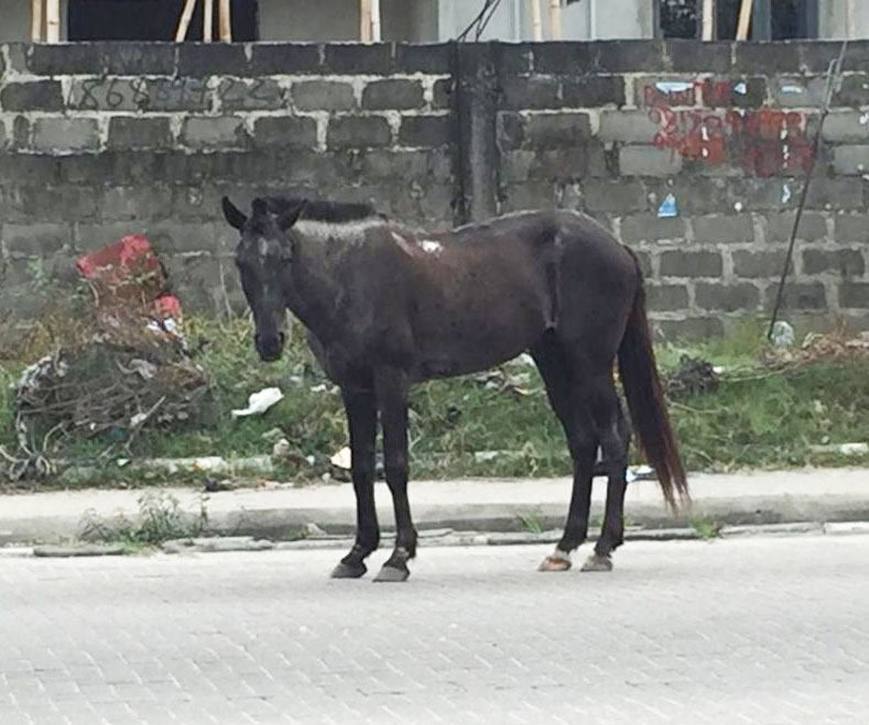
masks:
{"type": "MultiPolygon", "coordinates": [[[[382,39],[412,43],[453,40],[484,0],[381,0],[382,39]]],[[[547,0],[539,0],[543,36],[551,36],[547,0]]],[[[717,0],[718,35],[732,37],[740,0],[717,0]]],[[[172,40],[180,0],[62,0],[62,40],[172,40]]],[[[359,37],[359,0],[232,0],[239,41],[328,42],[359,37]]],[[[567,0],[564,40],[651,39],[699,34],[699,0],[567,0]],[[673,19],[676,19],[674,21],[673,19]]],[[[0,0],[0,41],[30,39],[31,0],[0,0]]],[[[869,36],[869,3],[856,3],[851,37],[869,36]]],[[[197,7],[189,40],[202,39],[197,7]]],[[[844,37],[844,0],[756,0],[753,40],[844,37]]],[[[501,0],[481,40],[533,39],[528,0],[501,0]]]]}

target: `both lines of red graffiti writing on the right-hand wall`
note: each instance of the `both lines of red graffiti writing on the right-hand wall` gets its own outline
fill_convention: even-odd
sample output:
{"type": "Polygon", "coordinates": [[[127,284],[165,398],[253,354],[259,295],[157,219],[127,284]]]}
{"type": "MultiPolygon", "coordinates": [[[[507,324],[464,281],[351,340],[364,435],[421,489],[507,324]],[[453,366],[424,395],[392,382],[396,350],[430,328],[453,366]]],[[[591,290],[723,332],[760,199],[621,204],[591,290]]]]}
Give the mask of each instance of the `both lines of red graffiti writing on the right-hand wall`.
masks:
{"type": "Polygon", "coordinates": [[[654,145],[689,161],[731,164],[756,176],[806,172],[812,157],[807,114],[769,107],[715,108],[746,92],[741,81],[709,79],[647,86],[643,100],[658,128],[654,145]],[[678,108],[698,101],[705,108],[678,108]]]}

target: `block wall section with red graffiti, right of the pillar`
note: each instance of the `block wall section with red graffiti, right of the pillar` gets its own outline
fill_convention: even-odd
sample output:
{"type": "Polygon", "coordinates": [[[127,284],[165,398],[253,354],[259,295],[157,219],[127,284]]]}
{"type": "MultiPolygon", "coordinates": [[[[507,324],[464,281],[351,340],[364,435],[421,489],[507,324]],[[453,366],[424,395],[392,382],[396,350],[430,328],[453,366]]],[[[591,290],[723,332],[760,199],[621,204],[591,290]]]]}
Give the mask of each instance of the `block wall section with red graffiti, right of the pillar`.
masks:
{"type": "MultiPolygon", "coordinates": [[[[768,317],[838,43],[541,43],[498,112],[503,211],[577,208],[638,251],[666,338],[768,317]],[[593,70],[593,73],[589,73],[593,70]],[[674,218],[659,213],[672,196],[674,218]]],[[[869,328],[869,45],[824,127],[784,318],[869,328]]]]}

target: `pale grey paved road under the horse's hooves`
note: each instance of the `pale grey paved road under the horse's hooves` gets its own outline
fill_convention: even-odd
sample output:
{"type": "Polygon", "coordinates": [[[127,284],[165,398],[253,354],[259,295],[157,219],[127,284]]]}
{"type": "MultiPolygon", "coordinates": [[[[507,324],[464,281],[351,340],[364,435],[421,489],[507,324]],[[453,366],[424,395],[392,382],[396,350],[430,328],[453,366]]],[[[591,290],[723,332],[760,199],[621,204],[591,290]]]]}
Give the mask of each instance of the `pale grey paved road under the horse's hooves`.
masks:
{"type": "Polygon", "coordinates": [[[0,559],[0,723],[869,723],[869,537],[546,551],[0,559]]]}

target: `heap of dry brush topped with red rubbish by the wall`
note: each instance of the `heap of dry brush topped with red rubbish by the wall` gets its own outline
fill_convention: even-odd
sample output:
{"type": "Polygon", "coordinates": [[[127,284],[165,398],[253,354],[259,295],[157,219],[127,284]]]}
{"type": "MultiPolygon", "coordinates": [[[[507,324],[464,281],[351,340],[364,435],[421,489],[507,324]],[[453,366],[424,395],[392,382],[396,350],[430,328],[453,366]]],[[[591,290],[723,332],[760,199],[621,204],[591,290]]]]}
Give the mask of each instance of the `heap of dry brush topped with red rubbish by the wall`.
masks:
{"type": "Polygon", "coordinates": [[[11,387],[18,451],[0,447],[11,480],[56,473],[70,437],[129,451],[145,428],[184,422],[211,385],[181,331],[182,309],[146,239],[123,237],[76,261],[91,293],[80,340],[23,371],[11,387]]]}

